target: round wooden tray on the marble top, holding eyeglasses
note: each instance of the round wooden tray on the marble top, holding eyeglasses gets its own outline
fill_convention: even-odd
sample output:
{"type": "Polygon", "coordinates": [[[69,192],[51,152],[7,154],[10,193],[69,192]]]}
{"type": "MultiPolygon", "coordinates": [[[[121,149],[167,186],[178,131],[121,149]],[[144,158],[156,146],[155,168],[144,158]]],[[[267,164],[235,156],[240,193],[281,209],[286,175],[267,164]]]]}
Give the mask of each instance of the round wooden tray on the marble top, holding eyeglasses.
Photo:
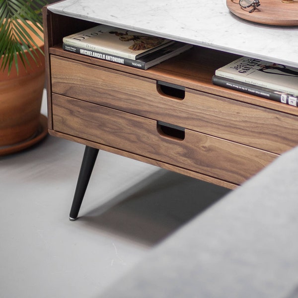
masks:
{"type": "Polygon", "coordinates": [[[260,6],[249,13],[252,8],[242,8],[239,0],[226,0],[229,10],[240,18],[248,21],[278,25],[298,26],[298,0],[292,3],[284,3],[281,0],[260,0],[260,6]]]}

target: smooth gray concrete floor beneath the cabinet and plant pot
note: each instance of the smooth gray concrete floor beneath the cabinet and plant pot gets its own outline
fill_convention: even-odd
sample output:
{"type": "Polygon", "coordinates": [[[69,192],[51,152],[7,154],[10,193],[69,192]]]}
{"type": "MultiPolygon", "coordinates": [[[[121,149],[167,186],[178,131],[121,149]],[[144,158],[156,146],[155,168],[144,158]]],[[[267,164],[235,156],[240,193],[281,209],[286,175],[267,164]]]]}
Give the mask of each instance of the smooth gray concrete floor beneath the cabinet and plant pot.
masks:
{"type": "Polygon", "coordinates": [[[70,222],[83,151],[48,136],[0,157],[0,298],[95,298],[228,191],[100,150],[70,222]]]}

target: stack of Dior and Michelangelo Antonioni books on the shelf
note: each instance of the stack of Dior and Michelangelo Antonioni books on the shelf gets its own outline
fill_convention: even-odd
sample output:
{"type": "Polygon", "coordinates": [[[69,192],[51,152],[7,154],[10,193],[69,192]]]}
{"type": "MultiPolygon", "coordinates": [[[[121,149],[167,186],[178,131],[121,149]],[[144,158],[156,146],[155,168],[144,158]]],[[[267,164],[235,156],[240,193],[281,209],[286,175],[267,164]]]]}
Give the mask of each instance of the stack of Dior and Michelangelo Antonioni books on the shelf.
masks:
{"type": "Polygon", "coordinates": [[[191,47],[182,42],[108,25],[97,25],[63,38],[65,51],[144,70],[191,47]]]}

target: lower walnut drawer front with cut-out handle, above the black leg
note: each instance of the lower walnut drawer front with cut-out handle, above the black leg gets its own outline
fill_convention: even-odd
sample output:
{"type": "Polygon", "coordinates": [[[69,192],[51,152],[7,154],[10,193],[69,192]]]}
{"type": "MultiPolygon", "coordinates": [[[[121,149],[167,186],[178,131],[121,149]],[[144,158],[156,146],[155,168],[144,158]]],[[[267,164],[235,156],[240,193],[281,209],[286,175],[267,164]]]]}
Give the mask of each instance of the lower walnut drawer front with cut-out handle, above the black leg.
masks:
{"type": "Polygon", "coordinates": [[[54,131],[241,184],[277,154],[53,94],[54,131]]]}

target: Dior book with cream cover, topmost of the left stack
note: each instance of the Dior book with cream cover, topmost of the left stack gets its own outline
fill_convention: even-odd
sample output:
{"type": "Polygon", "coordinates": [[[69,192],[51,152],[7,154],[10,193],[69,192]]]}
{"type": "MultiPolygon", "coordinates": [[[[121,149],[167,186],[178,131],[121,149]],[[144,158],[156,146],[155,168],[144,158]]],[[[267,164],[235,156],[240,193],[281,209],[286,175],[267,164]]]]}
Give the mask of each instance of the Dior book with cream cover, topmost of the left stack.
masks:
{"type": "Polygon", "coordinates": [[[173,41],[108,25],[98,25],[66,36],[63,42],[91,51],[137,60],[173,41]]]}

